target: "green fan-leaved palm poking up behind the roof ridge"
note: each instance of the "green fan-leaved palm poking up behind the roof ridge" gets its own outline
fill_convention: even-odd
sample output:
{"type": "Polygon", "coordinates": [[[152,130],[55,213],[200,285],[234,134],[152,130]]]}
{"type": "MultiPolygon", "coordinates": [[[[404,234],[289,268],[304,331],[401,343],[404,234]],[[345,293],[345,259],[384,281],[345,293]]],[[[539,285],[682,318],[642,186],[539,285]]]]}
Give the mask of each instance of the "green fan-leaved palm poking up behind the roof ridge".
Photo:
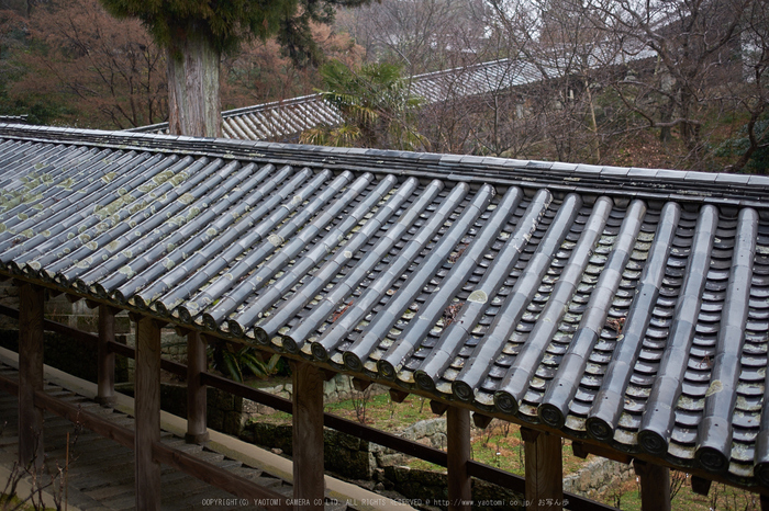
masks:
{"type": "Polygon", "coordinates": [[[304,143],[404,150],[425,146],[416,132],[422,99],[411,93],[399,66],[367,64],[353,70],[332,60],[321,68],[321,76],[327,88],[321,94],[339,110],[344,123],[310,129],[302,135],[304,143]]]}

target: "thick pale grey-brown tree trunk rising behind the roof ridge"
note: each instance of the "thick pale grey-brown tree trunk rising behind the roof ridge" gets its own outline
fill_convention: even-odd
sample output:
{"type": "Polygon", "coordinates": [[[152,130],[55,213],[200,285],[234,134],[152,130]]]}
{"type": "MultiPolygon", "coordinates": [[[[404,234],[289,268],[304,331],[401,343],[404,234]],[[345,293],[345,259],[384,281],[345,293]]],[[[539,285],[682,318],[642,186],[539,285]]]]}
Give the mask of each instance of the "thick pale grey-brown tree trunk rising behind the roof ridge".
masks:
{"type": "Polygon", "coordinates": [[[219,99],[221,53],[194,30],[167,50],[168,125],[171,135],[222,136],[219,99]]]}

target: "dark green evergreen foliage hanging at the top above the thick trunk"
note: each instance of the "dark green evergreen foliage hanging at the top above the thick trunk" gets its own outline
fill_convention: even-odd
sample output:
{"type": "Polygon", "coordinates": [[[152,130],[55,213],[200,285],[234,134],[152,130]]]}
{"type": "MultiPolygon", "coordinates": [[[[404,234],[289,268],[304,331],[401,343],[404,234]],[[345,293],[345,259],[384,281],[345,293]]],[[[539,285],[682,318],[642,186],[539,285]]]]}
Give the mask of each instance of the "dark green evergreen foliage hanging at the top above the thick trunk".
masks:
{"type": "Polygon", "coordinates": [[[242,41],[278,36],[283,53],[297,65],[316,64],[321,52],[310,24],[334,21],[334,5],[355,7],[369,0],[100,0],[119,18],[138,18],[155,41],[177,52],[176,43],[205,38],[220,53],[242,41]]]}

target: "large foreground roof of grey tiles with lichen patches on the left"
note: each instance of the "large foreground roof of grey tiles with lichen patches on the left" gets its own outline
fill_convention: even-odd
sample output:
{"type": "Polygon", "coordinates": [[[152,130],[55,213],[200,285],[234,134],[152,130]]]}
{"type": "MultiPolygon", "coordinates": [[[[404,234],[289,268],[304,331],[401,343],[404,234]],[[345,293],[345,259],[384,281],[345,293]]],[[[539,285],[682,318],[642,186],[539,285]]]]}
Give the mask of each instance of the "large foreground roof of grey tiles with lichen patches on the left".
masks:
{"type": "Polygon", "coordinates": [[[0,274],[769,486],[769,179],[0,125],[0,274]]]}

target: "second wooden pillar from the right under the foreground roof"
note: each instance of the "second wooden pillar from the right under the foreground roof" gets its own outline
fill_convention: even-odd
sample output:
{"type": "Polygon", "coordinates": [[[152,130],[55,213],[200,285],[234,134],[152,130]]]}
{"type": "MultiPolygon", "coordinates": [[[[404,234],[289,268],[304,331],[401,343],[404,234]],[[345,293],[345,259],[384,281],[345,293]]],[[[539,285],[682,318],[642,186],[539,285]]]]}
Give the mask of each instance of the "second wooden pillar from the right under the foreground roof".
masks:
{"type": "Polygon", "coordinates": [[[560,436],[521,428],[524,442],[526,509],[564,508],[564,461],[560,436]]]}

